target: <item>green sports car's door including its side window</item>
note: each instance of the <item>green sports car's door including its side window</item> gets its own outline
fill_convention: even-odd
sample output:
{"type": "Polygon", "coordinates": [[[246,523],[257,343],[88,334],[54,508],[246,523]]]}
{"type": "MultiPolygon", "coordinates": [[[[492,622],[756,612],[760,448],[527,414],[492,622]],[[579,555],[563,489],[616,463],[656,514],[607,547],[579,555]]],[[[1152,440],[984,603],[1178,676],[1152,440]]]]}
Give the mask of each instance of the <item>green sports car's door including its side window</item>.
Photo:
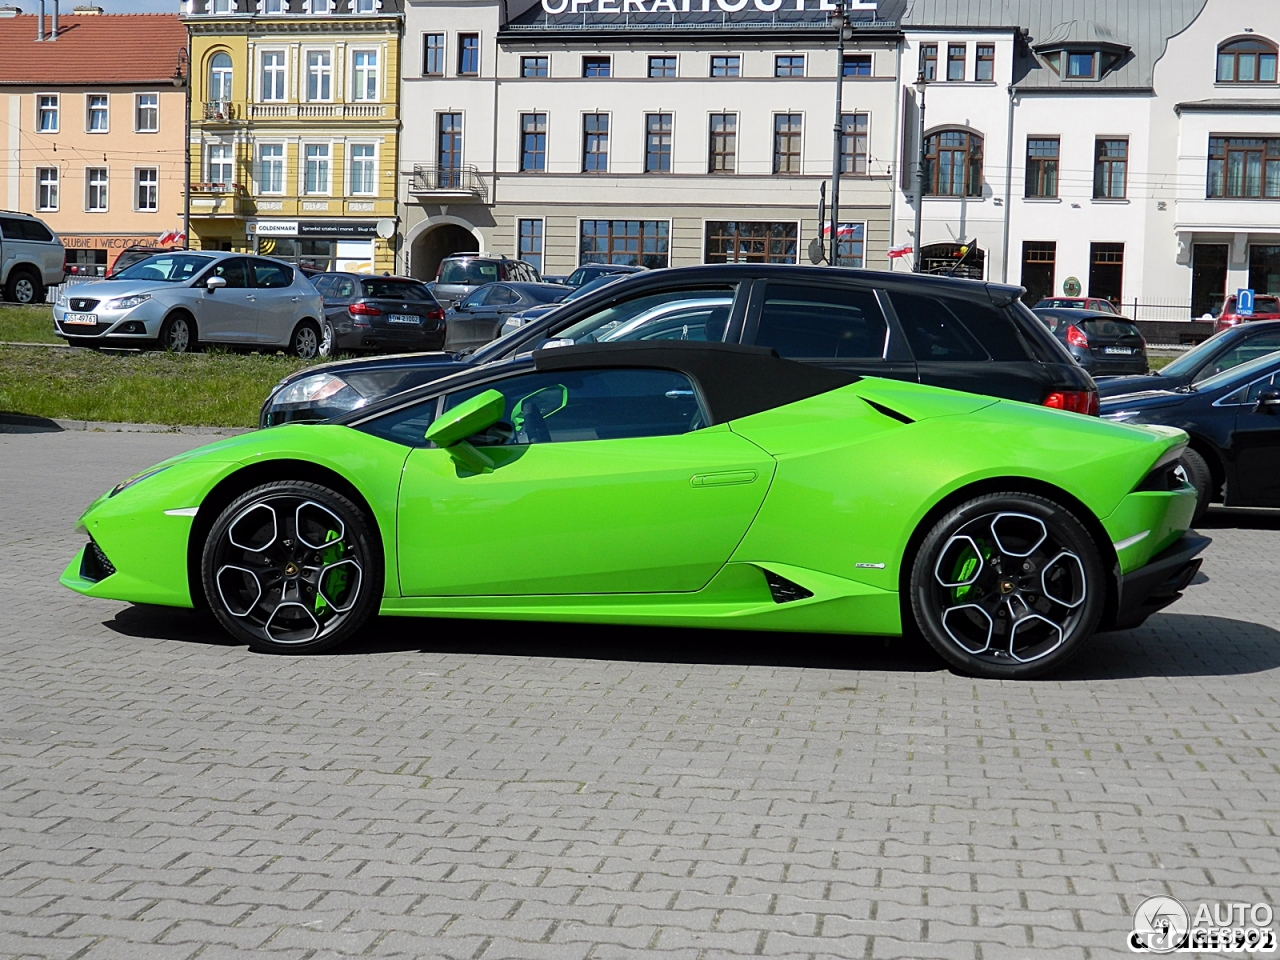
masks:
{"type": "MultiPolygon", "coordinates": [[[[472,472],[435,447],[406,461],[404,596],[698,590],[773,479],[759,447],[705,426],[684,374],[527,372],[451,394],[443,410],[486,390],[506,408],[470,442],[492,468],[472,472]]],[[[412,429],[422,426],[420,417],[412,429]]]]}

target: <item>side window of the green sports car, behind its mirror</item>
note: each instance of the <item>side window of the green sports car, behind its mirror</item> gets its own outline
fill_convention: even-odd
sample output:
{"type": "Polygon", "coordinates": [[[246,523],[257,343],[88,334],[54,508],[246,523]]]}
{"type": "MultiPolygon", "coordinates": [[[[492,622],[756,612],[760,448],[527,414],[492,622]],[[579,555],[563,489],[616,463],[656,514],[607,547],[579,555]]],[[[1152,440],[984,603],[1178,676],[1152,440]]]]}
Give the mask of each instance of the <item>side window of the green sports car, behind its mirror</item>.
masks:
{"type": "Polygon", "coordinates": [[[452,393],[444,410],[485,390],[507,398],[502,421],[476,445],[673,436],[707,425],[698,392],[672,370],[612,369],[524,374],[452,393]]]}

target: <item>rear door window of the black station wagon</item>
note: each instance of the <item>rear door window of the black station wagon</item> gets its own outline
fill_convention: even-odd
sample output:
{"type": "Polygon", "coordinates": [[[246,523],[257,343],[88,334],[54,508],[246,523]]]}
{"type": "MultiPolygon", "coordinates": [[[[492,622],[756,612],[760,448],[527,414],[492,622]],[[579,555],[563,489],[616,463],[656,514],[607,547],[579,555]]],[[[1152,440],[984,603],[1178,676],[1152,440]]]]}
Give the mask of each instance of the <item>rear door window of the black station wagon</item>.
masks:
{"type": "Polygon", "coordinates": [[[805,360],[878,358],[884,356],[887,335],[870,291],[771,283],[755,346],[805,360]]]}

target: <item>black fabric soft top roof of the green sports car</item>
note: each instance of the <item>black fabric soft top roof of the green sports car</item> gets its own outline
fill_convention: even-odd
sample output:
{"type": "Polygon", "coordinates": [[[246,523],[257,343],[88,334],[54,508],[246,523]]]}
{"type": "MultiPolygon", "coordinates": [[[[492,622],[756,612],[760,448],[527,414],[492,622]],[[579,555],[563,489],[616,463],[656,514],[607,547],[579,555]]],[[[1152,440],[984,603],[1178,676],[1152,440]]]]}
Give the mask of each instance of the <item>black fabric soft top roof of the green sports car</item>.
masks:
{"type": "Polygon", "coordinates": [[[842,370],[783,360],[768,347],[690,340],[544,347],[534,351],[534,366],[540,371],[586,367],[676,370],[698,383],[716,424],[817,397],[861,379],[842,370]]]}

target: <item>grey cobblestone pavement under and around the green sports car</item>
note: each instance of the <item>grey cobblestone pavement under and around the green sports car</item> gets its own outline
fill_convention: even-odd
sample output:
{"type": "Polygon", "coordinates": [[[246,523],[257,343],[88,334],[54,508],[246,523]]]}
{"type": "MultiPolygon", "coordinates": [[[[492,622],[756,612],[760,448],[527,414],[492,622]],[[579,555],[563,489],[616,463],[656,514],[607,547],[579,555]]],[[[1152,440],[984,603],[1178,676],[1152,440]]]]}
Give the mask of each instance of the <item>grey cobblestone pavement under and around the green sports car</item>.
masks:
{"type": "Polygon", "coordinates": [[[1280,906],[1280,517],[1005,684],[881,640],[378,621],[250,654],[55,580],[164,434],[0,434],[0,956],[1128,955],[1280,906]]]}

